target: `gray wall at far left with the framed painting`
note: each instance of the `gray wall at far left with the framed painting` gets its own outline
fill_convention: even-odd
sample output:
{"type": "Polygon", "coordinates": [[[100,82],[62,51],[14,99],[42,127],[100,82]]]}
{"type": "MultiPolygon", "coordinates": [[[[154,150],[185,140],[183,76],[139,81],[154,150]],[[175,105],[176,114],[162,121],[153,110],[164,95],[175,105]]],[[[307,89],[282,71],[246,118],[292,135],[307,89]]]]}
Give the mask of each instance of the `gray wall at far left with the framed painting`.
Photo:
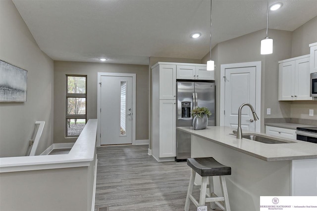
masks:
{"type": "Polygon", "coordinates": [[[27,102],[0,103],[0,157],[24,156],[35,121],[45,121],[39,154],[53,143],[53,60],[11,0],[0,0],[0,29],[0,59],[28,71],[27,102]]]}

